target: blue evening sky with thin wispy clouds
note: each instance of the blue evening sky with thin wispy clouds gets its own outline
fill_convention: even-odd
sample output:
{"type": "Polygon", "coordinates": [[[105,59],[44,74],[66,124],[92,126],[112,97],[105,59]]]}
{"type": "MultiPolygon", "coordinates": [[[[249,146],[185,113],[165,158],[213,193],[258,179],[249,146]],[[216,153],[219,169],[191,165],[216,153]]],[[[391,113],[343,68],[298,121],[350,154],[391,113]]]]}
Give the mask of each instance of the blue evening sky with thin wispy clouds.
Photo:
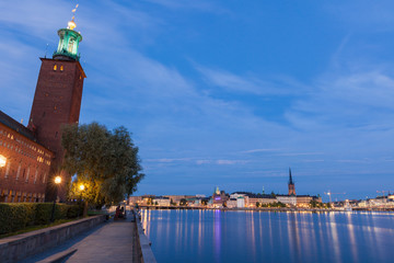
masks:
{"type": "MultiPolygon", "coordinates": [[[[0,2],[0,110],[30,115],[71,0],[0,2]]],[[[79,1],[81,123],[132,132],[137,194],[394,191],[394,1],[79,1]]]]}

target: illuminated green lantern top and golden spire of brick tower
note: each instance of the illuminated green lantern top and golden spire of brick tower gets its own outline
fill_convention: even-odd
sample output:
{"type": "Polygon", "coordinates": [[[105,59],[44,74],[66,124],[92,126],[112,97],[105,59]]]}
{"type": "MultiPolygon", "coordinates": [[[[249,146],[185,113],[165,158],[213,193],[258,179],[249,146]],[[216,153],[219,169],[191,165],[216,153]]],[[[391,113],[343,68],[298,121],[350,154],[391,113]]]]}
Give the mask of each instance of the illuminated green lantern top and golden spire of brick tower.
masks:
{"type": "Polygon", "coordinates": [[[68,22],[67,28],[58,30],[60,37],[57,50],[54,53],[54,59],[61,60],[79,60],[78,54],[79,43],[82,41],[82,36],[79,32],[74,31],[77,24],[74,22],[78,4],[72,10],[71,21],[68,22]]]}

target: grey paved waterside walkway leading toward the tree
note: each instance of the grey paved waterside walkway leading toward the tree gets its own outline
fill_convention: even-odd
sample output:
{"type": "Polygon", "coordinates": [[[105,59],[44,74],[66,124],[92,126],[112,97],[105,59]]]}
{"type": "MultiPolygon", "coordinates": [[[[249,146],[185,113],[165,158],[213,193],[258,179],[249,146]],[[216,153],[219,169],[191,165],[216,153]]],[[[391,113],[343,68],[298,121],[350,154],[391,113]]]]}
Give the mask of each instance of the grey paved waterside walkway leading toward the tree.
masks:
{"type": "MultiPolygon", "coordinates": [[[[131,216],[130,216],[131,217],[131,216]]],[[[60,247],[26,259],[37,262],[68,249],[78,249],[66,262],[137,262],[136,231],[130,219],[104,222],[104,225],[78,236],[60,247]]]]}

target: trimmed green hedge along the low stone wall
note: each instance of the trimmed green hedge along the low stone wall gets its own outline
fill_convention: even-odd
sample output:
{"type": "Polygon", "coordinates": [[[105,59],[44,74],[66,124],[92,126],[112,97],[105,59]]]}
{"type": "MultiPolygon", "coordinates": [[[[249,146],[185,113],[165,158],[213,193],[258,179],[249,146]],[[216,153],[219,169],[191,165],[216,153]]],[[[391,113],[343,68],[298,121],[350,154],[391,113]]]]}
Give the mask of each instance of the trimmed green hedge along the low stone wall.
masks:
{"type": "MultiPolygon", "coordinates": [[[[14,232],[26,226],[46,225],[50,222],[53,203],[0,204],[0,235],[14,232]]],[[[55,220],[76,218],[82,215],[79,205],[56,204],[55,220]]]]}

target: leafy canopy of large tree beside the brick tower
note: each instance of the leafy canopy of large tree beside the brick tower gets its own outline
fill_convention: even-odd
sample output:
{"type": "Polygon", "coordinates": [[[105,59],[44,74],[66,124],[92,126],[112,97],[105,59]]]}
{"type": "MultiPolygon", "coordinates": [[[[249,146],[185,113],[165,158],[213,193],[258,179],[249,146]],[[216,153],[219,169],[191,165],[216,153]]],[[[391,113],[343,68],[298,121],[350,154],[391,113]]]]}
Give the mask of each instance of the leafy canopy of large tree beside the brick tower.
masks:
{"type": "Polygon", "coordinates": [[[138,147],[123,126],[108,130],[97,123],[66,125],[61,144],[63,169],[77,174],[70,198],[83,197],[96,205],[117,203],[132,194],[144,178],[138,147]]]}

